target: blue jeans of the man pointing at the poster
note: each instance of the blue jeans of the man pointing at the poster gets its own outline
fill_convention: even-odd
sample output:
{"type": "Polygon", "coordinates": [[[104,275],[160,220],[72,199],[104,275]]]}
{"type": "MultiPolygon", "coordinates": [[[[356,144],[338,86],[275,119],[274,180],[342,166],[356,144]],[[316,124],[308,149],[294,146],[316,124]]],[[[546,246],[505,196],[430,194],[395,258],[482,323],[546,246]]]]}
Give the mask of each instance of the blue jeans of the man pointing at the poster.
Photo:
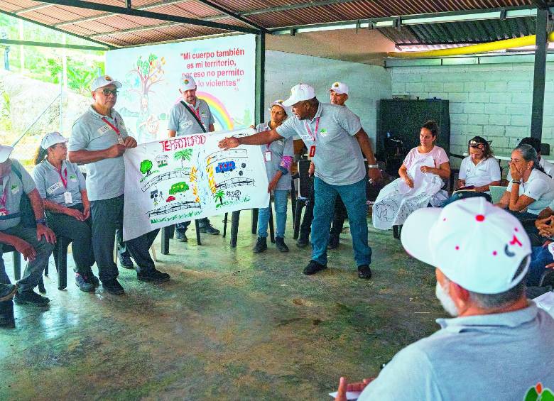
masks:
{"type": "Polygon", "coordinates": [[[315,205],[312,221],[312,259],[327,264],[327,243],[335,198],[340,195],[347,209],[357,265],[371,263],[371,248],[367,245],[366,179],[350,185],[329,185],[320,178],[314,180],[315,205]]]}

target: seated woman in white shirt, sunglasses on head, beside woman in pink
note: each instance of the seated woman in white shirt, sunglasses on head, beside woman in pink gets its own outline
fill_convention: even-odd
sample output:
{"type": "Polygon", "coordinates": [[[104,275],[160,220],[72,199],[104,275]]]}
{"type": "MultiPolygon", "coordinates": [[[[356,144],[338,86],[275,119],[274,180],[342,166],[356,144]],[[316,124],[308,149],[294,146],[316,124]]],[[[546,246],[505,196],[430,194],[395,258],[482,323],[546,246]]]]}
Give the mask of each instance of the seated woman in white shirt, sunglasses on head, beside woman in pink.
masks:
{"type": "Polygon", "coordinates": [[[489,192],[491,185],[500,185],[500,164],[492,155],[489,142],[475,136],[468,143],[469,156],[462,160],[458,187],[473,187],[475,192],[489,192]]]}

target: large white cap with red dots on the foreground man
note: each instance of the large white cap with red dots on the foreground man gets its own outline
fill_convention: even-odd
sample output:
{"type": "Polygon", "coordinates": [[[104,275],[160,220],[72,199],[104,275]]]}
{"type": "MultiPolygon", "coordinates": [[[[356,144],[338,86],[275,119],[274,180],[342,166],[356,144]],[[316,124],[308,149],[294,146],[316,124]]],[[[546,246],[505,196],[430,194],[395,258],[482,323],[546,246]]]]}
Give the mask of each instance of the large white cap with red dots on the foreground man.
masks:
{"type": "Polygon", "coordinates": [[[521,282],[528,264],[514,275],[531,254],[518,219],[483,197],[416,210],[404,222],[401,240],[411,256],[480,294],[506,292],[521,282]]]}

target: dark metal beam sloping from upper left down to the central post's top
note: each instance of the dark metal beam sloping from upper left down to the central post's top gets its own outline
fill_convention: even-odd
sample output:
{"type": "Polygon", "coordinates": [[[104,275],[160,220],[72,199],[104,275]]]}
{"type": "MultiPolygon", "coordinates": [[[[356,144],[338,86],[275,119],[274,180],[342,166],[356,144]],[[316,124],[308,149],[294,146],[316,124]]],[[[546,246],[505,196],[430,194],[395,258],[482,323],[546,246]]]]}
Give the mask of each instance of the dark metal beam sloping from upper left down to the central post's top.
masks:
{"type": "Polygon", "coordinates": [[[212,21],[203,21],[196,18],[187,18],[181,16],[172,16],[163,13],[154,13],[152,11],[127,9],[126,7],[110,6],[109,4],[92,3],[82,0],[44,0],[44,3],[57,4],[58,6],[77,7],[79,9],[99,10],[107,13],[123,14],[127,16],[136,16],[143,18],[153,18],[160,21],[171,21],[185,23],[188,25],[206,26],[207,28],[223,29],[225,31],[259,33],[258,29],[246,28],[243,26],[229,25],[227,23],[217,23],[212,21]]]}

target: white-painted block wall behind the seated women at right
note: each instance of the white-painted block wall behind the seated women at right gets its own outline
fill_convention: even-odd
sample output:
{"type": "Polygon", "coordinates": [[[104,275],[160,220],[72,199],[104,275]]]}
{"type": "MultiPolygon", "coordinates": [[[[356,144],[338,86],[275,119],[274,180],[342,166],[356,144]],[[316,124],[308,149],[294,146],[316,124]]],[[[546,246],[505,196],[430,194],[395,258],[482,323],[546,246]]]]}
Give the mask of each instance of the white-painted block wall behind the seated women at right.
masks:
{"type": "MultiPolygon", "coordinates": [[[[393,67],[391,74],[393,96],[450,100],[452,153],[467,151],[467,141],[479,135],[493,141],[496,154],[509,155],[530,135],[532,63],[393,67]]],[[[543,142],[554,148],[553,62],[547,67],[543,142]]]]}

